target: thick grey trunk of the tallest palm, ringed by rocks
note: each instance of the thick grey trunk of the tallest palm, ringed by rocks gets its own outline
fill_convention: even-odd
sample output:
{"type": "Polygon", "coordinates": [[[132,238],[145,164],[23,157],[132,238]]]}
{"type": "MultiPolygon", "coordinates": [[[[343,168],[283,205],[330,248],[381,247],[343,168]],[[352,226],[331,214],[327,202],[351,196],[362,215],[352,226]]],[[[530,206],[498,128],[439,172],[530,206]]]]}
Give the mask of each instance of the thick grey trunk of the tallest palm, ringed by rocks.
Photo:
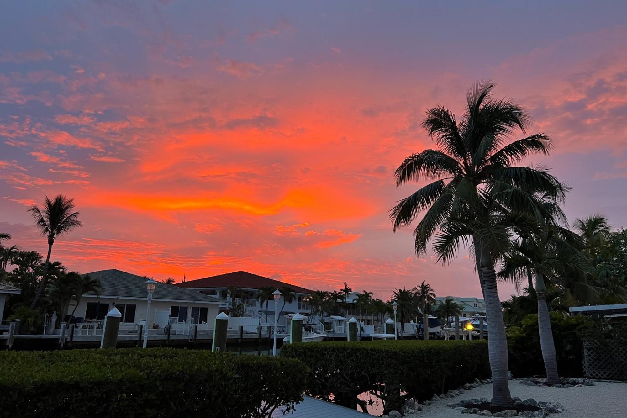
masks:
{"type": "MultiPolygon", "coordinates": [[[[489,258],[488,258],[489,260],[489,258]]],[[[482,261],[482,264],[485,262],[482,261]]],[[[484,265],[481,270],[483,295],[488,322],[488,352],[492,369],[492,404],[510,406],[514,404],[507,380],[508,353],[503,310],[498,299],[497,275],[493,265],[484,265]]]]}

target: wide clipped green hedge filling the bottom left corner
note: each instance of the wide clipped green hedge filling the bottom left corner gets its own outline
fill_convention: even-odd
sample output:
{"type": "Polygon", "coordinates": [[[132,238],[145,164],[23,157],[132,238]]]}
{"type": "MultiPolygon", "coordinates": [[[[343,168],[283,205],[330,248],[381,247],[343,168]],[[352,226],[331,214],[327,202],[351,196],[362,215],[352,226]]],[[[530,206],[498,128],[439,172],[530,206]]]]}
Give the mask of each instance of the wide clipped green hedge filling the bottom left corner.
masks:
{"type": "Polygon", "coordinates": [[[0,417],[266,417],[302,399],[307,373],[206,350],[2,351],[0,417]]]}

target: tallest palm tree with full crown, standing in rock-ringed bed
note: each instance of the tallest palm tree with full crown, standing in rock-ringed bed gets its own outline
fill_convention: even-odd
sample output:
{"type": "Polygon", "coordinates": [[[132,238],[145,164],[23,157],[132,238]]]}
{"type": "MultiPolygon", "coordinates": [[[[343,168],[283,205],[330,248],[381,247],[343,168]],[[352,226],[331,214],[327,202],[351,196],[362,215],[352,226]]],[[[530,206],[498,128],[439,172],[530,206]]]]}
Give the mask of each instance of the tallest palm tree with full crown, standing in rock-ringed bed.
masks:
{"type": "Polygon", "coordinates": [[[438,149],[409,156],[395,176],[398,186],[409,181],[429,183],[399,201],[391,210],[391,220],[396,231],[424,212],[414,229],[414,249],[424,254],[427,242],[436,237],[436,252],[443,263],[455,256],[460,241],[472,244],[490,321],[492,402],[508,406],[513,400],[495,260],[507,248],[512,226],[534,210],[525,190],[543,191],[556,199],[565,192],[546,169],[515,165],[530,154],[548,154],[551,140],[540,133],[512,141],[516,129],[525,133],[529,116],[512,100],[493,97],[493,87],[485,82],[470,89],[459,122],[443,106],[427,110],[423,127],[438,149]],[[507,208],[518,213],[507,215],[507,208]]]}

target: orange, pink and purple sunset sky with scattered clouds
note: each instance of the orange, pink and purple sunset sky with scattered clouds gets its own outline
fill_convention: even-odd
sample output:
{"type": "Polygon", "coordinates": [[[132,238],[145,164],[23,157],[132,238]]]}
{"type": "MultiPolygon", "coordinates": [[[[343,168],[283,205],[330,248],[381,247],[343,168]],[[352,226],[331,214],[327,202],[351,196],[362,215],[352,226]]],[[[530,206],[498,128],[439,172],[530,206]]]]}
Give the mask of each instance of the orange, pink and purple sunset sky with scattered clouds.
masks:
{"type": "MultiPolygon", "coordinates": [[[[33,1],[0,6],[0,232],[75,199],[69,269],[230,271],[387,299],[478,296],[468,250],[416,257],[389,210],[426,109],[497,83],[554,140],[571,220],[627,224],[624,1],[33,1]]],[[[502,297],[514,292],[503,284],[502,297]]]]}

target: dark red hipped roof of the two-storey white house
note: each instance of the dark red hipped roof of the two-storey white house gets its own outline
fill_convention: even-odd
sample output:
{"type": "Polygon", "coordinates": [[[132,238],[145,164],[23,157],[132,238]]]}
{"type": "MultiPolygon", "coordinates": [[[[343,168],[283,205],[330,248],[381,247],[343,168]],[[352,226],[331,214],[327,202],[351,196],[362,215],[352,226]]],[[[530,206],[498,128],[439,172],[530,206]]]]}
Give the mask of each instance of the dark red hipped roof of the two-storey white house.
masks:
{"type": "Polygon", "coordinates": [[[174,286],[184,287],[186,289],[203,289],[206,287],[228,287],[237,286],[243,289],[260,289],[261,287],[271,286],[276,289],[287,286],[292,287],[295,292],[313,293],[305,287],[295,286],[290,283],[280,282],[278,280],[269,279],[268,277],[259,276],[246,271],[235,271],[232,273],[219,274],[218,276],[204,277],[204,279],[196,279],[187,282],[177,283],[174,286]]]}

